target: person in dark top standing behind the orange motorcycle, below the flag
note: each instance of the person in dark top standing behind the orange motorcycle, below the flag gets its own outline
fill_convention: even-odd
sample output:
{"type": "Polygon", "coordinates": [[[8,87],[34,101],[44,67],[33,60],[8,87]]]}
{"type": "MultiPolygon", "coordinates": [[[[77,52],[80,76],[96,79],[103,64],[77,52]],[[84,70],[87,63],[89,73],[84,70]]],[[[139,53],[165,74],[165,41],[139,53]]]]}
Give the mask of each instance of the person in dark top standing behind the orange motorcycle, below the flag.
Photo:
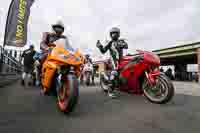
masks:
{"type": "Polygon", "coordinates": [[[23,59],[24,71],[22,73],[22,81],[21,84],[24,85],[25,78],[28,76],[29,82],[28,84],[31,85],[31,74],[34,68],[34,59],[33,56],[35,55],[36,51],[34,50],[34,46],[30,45],[30,48],[25,50],[22,53],[21,60],[23,59]]]}

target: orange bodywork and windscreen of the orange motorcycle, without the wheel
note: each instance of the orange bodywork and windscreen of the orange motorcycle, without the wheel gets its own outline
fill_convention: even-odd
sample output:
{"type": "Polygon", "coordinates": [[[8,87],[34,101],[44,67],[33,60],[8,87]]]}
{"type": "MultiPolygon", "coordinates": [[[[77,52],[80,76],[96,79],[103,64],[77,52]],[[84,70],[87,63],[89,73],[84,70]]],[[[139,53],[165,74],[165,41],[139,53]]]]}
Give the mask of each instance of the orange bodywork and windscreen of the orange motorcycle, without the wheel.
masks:
{"type": "Polygon", "coordinates": [[[74,51],[67,41],[61,39],[55,42],[51,53],[48,55],[42,67],[42,83],[45,88],[50,88],[55,72],[61,66],[75,66],[74,72],[80,75],[80,66],[83,56],[79,50],[74,51]]]}

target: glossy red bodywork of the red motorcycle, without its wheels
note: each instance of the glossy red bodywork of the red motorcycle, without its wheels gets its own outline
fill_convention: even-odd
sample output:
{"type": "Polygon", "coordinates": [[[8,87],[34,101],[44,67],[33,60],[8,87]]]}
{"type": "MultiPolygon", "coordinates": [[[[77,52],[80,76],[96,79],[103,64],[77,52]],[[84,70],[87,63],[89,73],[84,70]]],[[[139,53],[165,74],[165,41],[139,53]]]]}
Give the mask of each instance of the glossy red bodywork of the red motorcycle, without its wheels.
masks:
{"type": "MultiPolygon", "coordinates": [[[[129,91],[134,94],[143,94],[141,83],[144,78],[144,71],[148,69],[150,64],[160,65],[160,60],[157,55],[152,52],[139,50],[139,56],[123,57],[119,64],[120,78],[127,79],[127,83],[122,85],[120,90],[129,91]]],[[[148,79],[151,83],[155,83],[156,76],[159,71],[148,73],[148,79]]]]}

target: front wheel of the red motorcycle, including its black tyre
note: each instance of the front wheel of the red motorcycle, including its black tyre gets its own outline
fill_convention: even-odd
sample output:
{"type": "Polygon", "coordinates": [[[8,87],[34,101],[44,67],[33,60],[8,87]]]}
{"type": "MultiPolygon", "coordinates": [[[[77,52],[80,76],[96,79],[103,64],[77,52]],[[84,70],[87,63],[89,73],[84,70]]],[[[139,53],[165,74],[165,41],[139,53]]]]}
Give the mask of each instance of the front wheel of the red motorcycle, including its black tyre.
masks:
{"type": "Polygon", "coordinates": [[[157,77],[155,85],[151,85],[145,79],[142,88],[144,96],[152,103],[166,104],[174,96],[174,85],[164,74],[157,77]]]}

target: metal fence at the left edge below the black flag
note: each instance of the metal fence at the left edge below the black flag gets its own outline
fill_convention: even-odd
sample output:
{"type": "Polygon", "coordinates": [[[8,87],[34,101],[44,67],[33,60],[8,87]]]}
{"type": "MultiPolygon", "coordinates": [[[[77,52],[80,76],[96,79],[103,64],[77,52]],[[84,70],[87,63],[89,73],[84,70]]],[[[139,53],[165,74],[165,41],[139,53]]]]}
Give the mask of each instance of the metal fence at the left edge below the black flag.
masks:
{"type": "Polygon", "coordinates": [[[0,46],[0,74],[18,74],[22,71],[22,65],[16,59],[16,51],[8,51],[0,46]],[[14,52],[14,56],[13,53],[14,52]]]}

